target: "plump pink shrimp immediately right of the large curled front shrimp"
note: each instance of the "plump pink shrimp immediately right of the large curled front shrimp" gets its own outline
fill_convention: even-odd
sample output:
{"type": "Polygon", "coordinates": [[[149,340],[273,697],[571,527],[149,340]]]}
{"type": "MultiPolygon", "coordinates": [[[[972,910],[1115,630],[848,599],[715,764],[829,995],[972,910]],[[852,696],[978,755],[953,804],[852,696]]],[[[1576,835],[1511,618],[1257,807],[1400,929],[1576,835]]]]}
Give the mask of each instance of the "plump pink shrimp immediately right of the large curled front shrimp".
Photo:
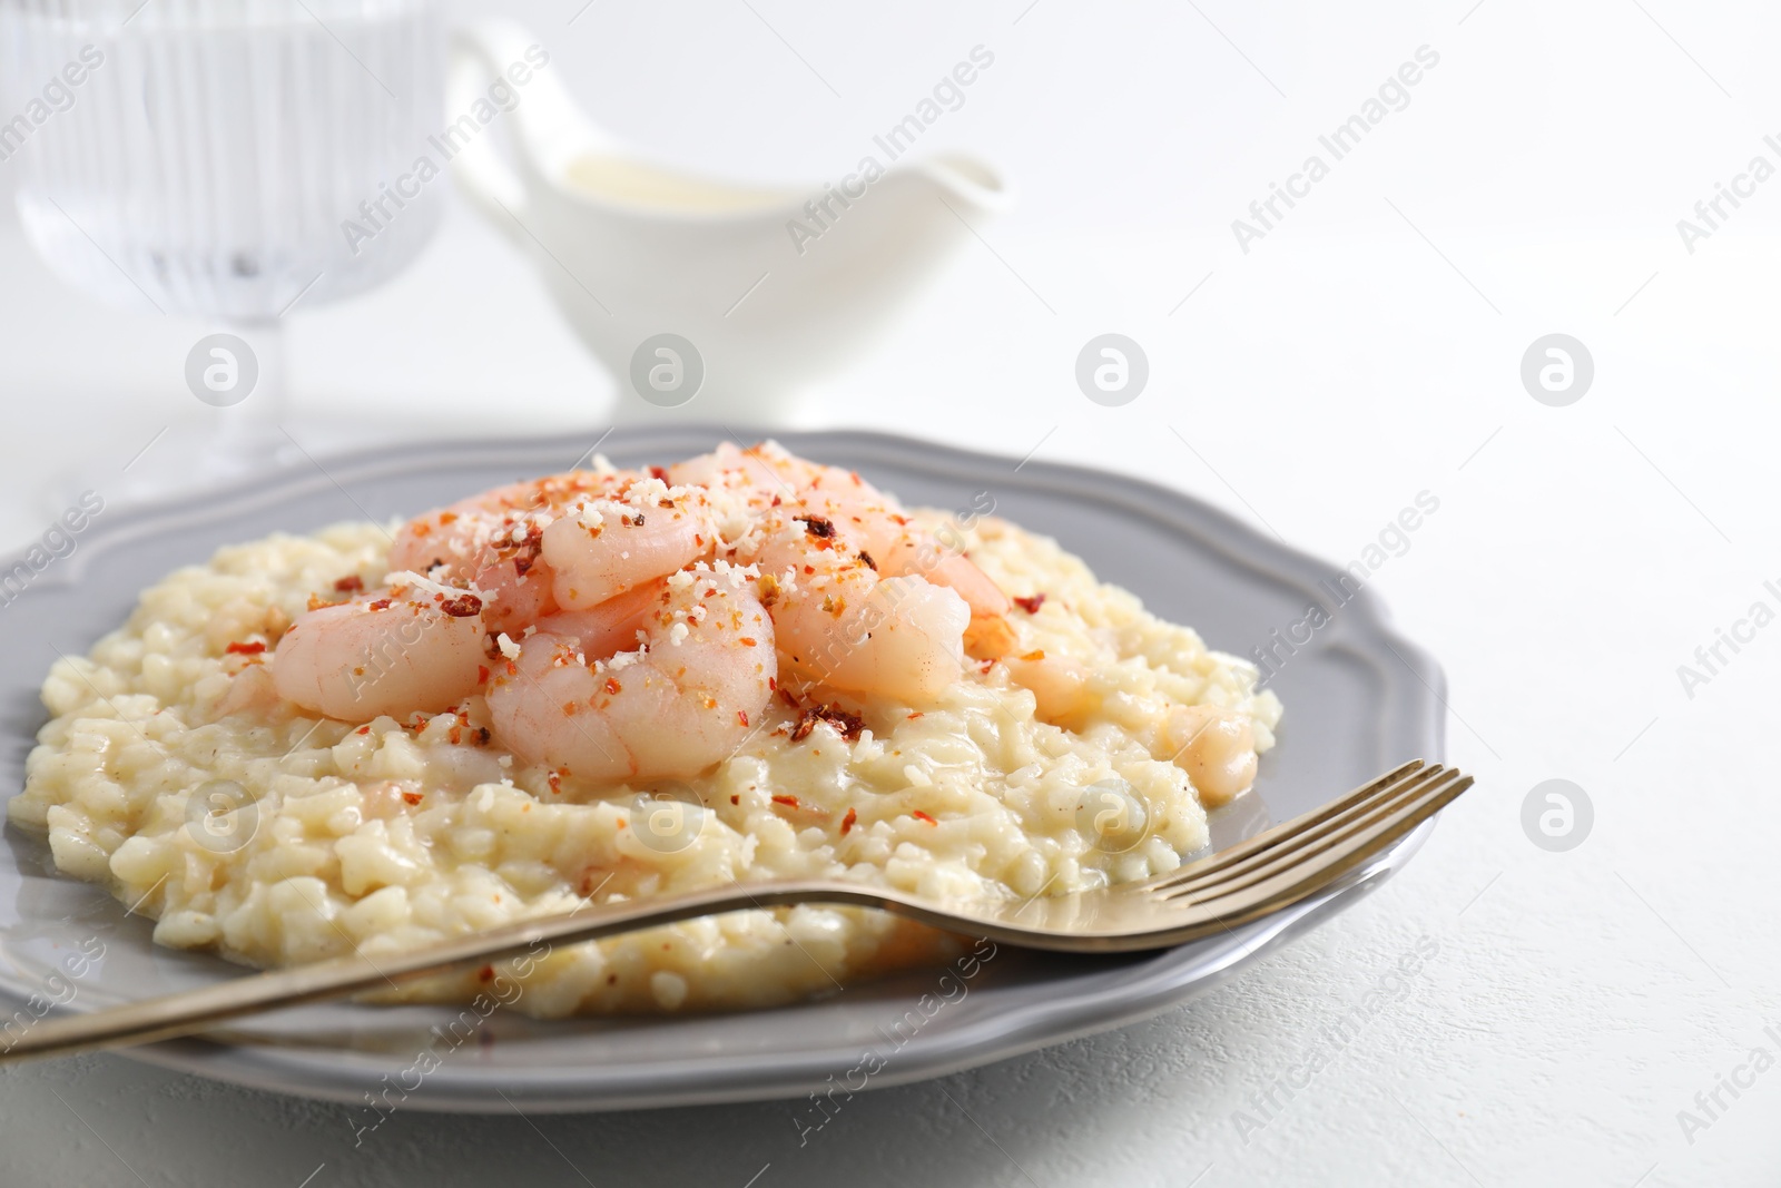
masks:
{"type": "Polygon", "coordinates": [[[882,579],[834,522],[777,517],[755,561],[794,677],[919,705],[964,675],[965,600],[921,577],[882,579]]]}

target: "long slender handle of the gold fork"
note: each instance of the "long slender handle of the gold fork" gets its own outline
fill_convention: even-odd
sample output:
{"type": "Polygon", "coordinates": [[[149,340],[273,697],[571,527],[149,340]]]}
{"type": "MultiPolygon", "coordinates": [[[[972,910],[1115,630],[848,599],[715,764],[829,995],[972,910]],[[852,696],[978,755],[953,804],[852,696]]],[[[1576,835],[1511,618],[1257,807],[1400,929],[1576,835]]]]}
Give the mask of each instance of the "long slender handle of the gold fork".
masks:
{"type": "Polygon", "coordinates": [[[363,990],[395,989],[403,981],[449,972],[470,962],[525,955],[538,958],[541,956],[538,946],[545,946],[549,951],[549,946],[554,944],[598,940],[696,915],[812,901],[892,907],[890,896],[883,891],[826,882],[771,883],[755,891],[732,883],[723,889],[693,891],[661,899],[590,905],[557,915],[515,921],[419,949],[376,956],[356,953],[292,969],[248,974],[221,985],[112,1006],[110,1010],[46,1017],[30,1024],[11,1044],[7,1044],[7,1033],[0,1031],[0,1065],[36,1056],[66,1056],[98,1047],[130,1047],[171,1040],[242,1015],[321,1003],[363,990]]]}

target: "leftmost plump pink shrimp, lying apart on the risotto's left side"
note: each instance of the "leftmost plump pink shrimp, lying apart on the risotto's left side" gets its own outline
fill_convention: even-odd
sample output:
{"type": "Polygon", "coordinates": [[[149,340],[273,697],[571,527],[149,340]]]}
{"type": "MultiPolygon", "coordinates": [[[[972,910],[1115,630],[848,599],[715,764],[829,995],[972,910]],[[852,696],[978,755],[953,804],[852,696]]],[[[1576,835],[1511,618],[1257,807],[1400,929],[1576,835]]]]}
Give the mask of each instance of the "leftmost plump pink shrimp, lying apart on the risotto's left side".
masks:
{"type": "Polygon", "coordinates": [[[438,712],[486,673],[483,602],[419,574],[388,590],[310,611],[272,652],[278,695],[346,721],[438,712]]]}

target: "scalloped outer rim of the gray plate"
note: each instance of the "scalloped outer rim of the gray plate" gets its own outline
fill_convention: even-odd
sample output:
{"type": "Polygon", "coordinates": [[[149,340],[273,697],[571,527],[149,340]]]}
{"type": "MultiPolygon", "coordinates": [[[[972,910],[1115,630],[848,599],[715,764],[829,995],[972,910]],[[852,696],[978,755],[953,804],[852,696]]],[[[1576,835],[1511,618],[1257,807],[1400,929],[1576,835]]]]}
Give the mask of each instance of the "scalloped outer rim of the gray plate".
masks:
{"type": "MultiPolygon", "coordinates": [[[[614,447],[663,456],[677,456],[677,451],[689,449],[703,451],[711,449],[716,440],[737,438],[728,426],[703,422],[623,426],[607,429],[593,447],[582,451],[570,465],[584,461],[614,435],[622,436],[614,447]]],[[[354,479],[436,472],[449,468],[458,458],[477,465],[500,463],[509,458],[522,467],[538,467],[541,461],[549,465],[549,454],[566,452],[565,436],[552,433],[495,440],[401,442],[328,454],[326,467],[305,451],[303,458],[262,476],[121,508],[82,533],[80,547],[62,565],[41,574],[18,598],[53,597],[55,591],[78,584],[94,557],[103,556],[107,549],[144,536],[224,522],[253,508],[299,499],[328,488],[337,488],[356,504],[349,493],[349,484],[354,479]]],[[[590,433],[590,436],[593,435],[590,433]]],[[[1339,568],[1288,545],[1284,540],[1263,534],[1232,513],[1188,492],[1094,465],[1017,461],[1004,454],[969,451],[876,429],[798,431],[748,426],[741,436],[746,440],[773,436],[785,442],[794,452],[810,456],[823,456],[825,449],[842,451],[853,460],[887,461],[903,470],[917,470],[949,481],[958,481],[962,476],[996,474],[1003,483],[1024,490],[1092,495],[1097,502],[1115,506],[1122,513],[1186,531],[1213,547],[1224,561],[1261,570],[1273,581],[1298,588],[1318,602],[1323,600],[1318,582],[1339,568]]],[[[0,559],[0,572],[21,561],[27,552],[28,547],[0,559]]],[[[1414,757],[1439,762],[1446,746],[1446,675],[1434,655],[1396,629],[1384,600],[1371,586],[1362,586],[1343,604],[1332,627],[1336,631],[1322,641],[1323,648],[1348,652],[1373,668],[1382,668],[1373,652],[1359,647],[1378,643],[1389,648],[1416,679],[1414,686],[1400,686],[1396,693],[1409,696],[1407,709],[1412,711],[1412,716],[1405,720],[1405,725],[1421,741],[1419,753],[1414,757]]],[[[1380,723],[1389,725],[1387,714],[1380,714],[1380,723]]],[[[1405,755],[1405,759],[1409,757],[1412,755],[1405,755]]],[[[1229,940],[1163,949],[1152,960],[1134,965],[1134,974],[1129,980],[1094,990],[1079,989],[1058,999],[1024,1003],[1010,1012],[976,1019],[964,1031],[921,1031],[908,1038],[880,1072],[873,1074],[869,1088],[907,1085],[1008,1060],[1136,1022],[1209,992],[1265,953],[1311,932],[1380,887],[1414,857],[1434,826],[1434,819],[1427,821],[1329,892],[1245,924],[1234,930],[1229,940]],[[1184,951],[1191,953],[1183,960],[1168,960],[1184,951]],[[1191,956],[1200,960],[1191,960],[1191,956]]],[[[20,1001],[0,987],[0,1003],[20,1001]]],[[[778,1010],[796,1010],[796,1006],[778,1010]]],[[[800,1097],[805,1092],[826,1088],[826,1078],[851,1067],[858,1049],[858,1044],[848,1042],[801,1053],[780,1053],[771,1062],[764,1062],[760,1054],[677,1060],[668,1070],[647,1063],[591,1070],[581,1065],[533,1069],[524,1085],[511,1081],[515,1072],[511,1067],[490,1069],[445,1062],[429,1074],[427,1092],[410,1095],[403,1108],[436,1113],[486,1113],[513,1108],[531,1113],[591,1113],[800,1097]]],[[[369,1097],[369,1090],[379,1085],[379,1076],[369,1069],[376,1060],[370,1054],[346,1049],[310,1051],[271,1044],[182,1038],[121,1049],[118,1054],[249,1088],[346,1104],[362,1104],[369,1097]]],[[[394,1067],[392,1058],[383,1056],[381,1065],[385,1070],[394,1067]]]]}

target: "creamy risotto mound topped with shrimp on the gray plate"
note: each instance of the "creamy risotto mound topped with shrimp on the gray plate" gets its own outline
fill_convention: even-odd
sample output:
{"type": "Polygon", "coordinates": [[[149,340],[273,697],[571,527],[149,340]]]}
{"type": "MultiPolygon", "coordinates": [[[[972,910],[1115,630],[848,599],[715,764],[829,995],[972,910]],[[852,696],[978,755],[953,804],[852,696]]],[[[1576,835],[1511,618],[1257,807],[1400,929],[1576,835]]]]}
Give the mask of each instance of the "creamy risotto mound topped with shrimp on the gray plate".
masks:
{"type": "MultiPolygon", "coordinates": [[[[591,474],[609,483],[620,472],[591,474]]],[[[663,472],[654,484],[627,479],[622,488],[645,492],[657,527],[657,508],[691,506],[691,484],[666,479],[663,472]]],[[[698,490],[720,488],[712,481],[698,490]]],[[[757,506],[780,502],[775,495],[757,506]]],[[[579,504],[575,531],[597,540],[600,515],[590,506],[579,504]]],[[[850,517],[834,504],[817,515],[814,506],[803,499],[784,538],[834,552],[850,517]]],[[[556,565],[556,595],[541,616],[536,607],[515,611],[524,598],[492,593],[488,568],[454,579],[449,547],[426,574],[392,575],[392,554],[413,543],[419,520],[342,524],[221,549],[142,591],[130,620],[89,655],[53,666],[43,686],[52,720],[9,818],[46,834],[61,871],[103,883],[155,917],[157,942],[262,967],[353,949],[376,955],[588,901],[730,880],[819,876],[931,898],[1024,898],[1174,869],[1206,844],[1208,807],[1247,787],[1254,753],[1273,745],[1279,702],[1256,689],[1245,661],[1208,650],[1191,629],[1099,582],[1053,540],[985,509],[960,517],[898,508],[899,531],[946,541],[949,556],[992,582],[983,597],[1006,595],[999,614],[980,613],[972,595],[964,625],[965,602],[944,591],[958,604],[940,607],[960,623],[951,666],[915,693],[880,670],[848,679],[844,664],[812,661],[794,613],[810,604],[841,614],[841,588],[825,588],[821,574],[800,575],[810,565],[784,566],[775,579],[778,566],[760,543],[771,533],[739,524],[748,511],[734,502],[700,520],[716,525],[698,545],[700,559],[650,586],[664,607],[675,591],[703,602],[684,613],[657,609],[654,623],[625,618],[623,627],[645,629],[598,648],[586,634],[593,627],[573,618],[593,611],[573,609],[581,595],[565,584],[570,563],[561,547],[552,552],[549,525],[536,543],[549,517],[522,515],[509,533],[515,520],[504,513],[497,541],[500,556],[511,547],[531,552],[540,572],[556,565]],[[527,533],[534,549],[524,547],[527,533]],[[750,533],[752,545],[737,543],[750,533]],[[388,631],[401,620],[374,616],[401,613],[404,597],[433,613],[415,622],[436,620],[440,638],[447,629],[470,632],[467,691],[451,689],[458,661],[440,645],[440,668],[420,677],[442,704],[403,711],[365,696],[351,705],[376,712],[358,714],[305,705],[326,702],[326,682],[338,675],[326,659],[313,673],[292,675],[306,663],[301,648],[328,643],[315,636],[328,616],[354,613],[388,631]],[[752,611],[723,604],[727,597],[768,613],[750,620],[752,611]],[[721,636],[725,622],[734,638],[721,636]],[[561,623],[582,634],[552,636],[568,631],[561,623]],[[755,638],[773,632],[777,663],[775,647],[755,638]],[[299,643],[310,636],[321,643],[299,643]],[[541,655],[545,643],[554,652],[525,668],[527,652],[541,655]],[[750,661],[746,671],[736,666],[707,684],[687,675],[696,663],[736,655],[750,661]],[[675,725],[673,704],[650,702],[643,725],[616,718],[627,696],[618,691],[648,686],[652,671],[666,671],[663,657],[680,680],[663,688],[691,700],[693,711],[721,714],[723,734],[695,720],[675,725]],[[549,686],[545,695],[547,684],[572,679],[591,691],[559,709],[563,693],[549,686]],[[322,693],[292,693],[310,688],[303,680],[322,693]],[[752,682],[764,682],[760,696],[752,682]],[[744,698],[743,707],[732,712],[725,698],[744,698]],[[565,721],[575,737],[557,739],[565,721]],[[650,750],[636,737],[650,728],[673,737],[650,750]],[[1241,753],[1206,755],[1206,739],[1241,753]],[[614,769],[597,762],[595,745],[616,752],[614,769]],[[707,745],[712,750],[702,752],[707,745]],[[588,759],[577,759],[584,752],[588,759]],[[1097,794],[1124,798],[1131,814],[1110,830],[1097,812],[1085,814],[1085,798],[1097,794]]],[[[636,520],[643,524],[643,511],[636,520]]],[[[630,527],[607,509],[607,533],[622,536],[614,524],[630,527]]],[[[846,565],[869,566],[864,581],[889,588],[892,566],[864,547],[857,552],[864,565],[851,552],[846,565]]],[[[634,554],[614,556],[629,565],[634,554]]],[[[520,577],[527,570],[520,565],[520,577]]],[[[921,584],[923,595],[940,588],[921,584]]],[[[602,590],[581,600],[598,609],[620,597],[602,590]]],[[[901,614],[910,602],[892,606],[901,614]]],[[[896,643],[882,620],[858,632],[862,648],[867,636],[873,647],[887,636],[883,647],[896,643]]],[[[928,638],[905,643],[926,647],[928,638]]],[[[385,664],[408,664],[401,639],[349,663],[353,688],[383,675],[385,664]]],[[[794,907],[686,921],[500,969],[518,987],[511,1005],[538,1017],[736,1008],[944,960],[955,944],[866,908],[794,907]]],[[[492,974],[468,971],[388,997],[467,999],[492,974]]]]}

